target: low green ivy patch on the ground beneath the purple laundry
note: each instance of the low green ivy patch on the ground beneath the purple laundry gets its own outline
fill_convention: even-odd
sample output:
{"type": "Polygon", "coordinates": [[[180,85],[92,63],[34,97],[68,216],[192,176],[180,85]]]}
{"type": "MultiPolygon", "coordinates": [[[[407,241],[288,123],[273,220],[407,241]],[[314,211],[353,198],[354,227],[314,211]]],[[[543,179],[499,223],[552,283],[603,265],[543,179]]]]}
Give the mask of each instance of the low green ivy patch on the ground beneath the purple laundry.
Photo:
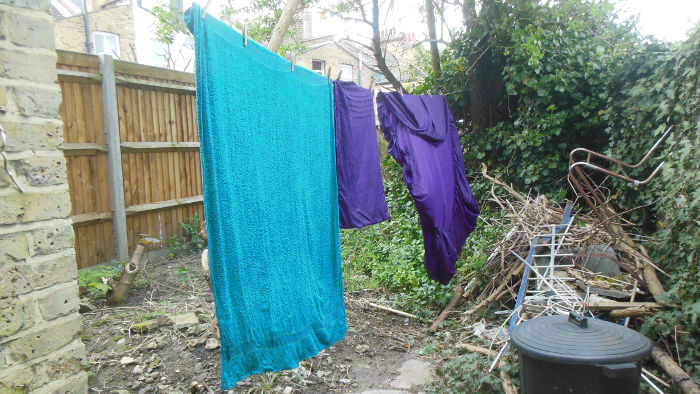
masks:
{"type": "Polygon", "coordinates": [[[367,278],[365,284],[391,291],[394,301],[405,310],[433,317],[454,296],[454,284],[483,266],[502,230],[479,221],[456,263],[457,275],[452,283],[445,286],[429,279],[423,267],[418,212],[404,184],[401,166],[387,155],[382,167],[391,219],[361,229],[341,230],[346,287],[358,276],[367,278]]]}

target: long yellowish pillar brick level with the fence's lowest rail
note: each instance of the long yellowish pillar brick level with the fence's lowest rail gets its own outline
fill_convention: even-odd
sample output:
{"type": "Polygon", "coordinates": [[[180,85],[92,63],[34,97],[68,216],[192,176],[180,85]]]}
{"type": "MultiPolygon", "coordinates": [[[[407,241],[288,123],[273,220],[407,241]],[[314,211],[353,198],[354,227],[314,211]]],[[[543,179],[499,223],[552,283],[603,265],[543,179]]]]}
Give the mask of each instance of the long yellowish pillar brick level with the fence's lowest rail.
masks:
{"type": "Polygon", "coordinates": [[[62,219],[70,214],[68,190],[3,196],[0,225],[62,219]]]}

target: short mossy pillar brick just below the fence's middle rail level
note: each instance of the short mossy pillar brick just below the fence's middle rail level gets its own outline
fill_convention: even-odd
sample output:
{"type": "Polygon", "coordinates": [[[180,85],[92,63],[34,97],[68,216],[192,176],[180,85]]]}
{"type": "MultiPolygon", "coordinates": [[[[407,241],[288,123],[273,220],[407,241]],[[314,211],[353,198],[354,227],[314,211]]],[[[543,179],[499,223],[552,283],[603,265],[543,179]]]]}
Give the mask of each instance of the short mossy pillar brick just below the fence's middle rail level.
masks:
{"type": "Polygon", "coordinates": [[[64,157],[37,156],[31,159],[14,160],[12,166],[21,185],[43,187],[67,183],[64,157]]]}

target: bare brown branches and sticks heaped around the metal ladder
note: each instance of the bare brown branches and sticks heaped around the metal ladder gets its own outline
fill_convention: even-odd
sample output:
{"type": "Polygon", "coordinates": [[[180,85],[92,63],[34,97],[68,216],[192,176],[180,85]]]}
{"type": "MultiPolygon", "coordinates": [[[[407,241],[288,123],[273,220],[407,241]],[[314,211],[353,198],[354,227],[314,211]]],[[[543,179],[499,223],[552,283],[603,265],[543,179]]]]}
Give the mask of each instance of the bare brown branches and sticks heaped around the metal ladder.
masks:
{"type": "MultiPolygon", "coordinates": [[[[495,245],[483,268],[470,273],[455,287],[454,298],[431,326],[432,332],[438,331],[440,323],[449,316],[454,308],[465,304],[467,299],[474,301],[468,310],[462,312],[462,317],[465,320],[495,301],[500,301],[502,305],[514,305],[524,270],[524,264],[515,254],[521,257],[526,256],[532,239],[547,233],[547,227],[552,228],[552,226],[561,224],[564,215],[564,208],[549,201],[546,196],[523,195],[499,179],[488,175],[486,166],[482,168],[482,175],[492,182],[492,200],[505,212],[500,220],[492,220],[489,224],[501,227],[506,235],[495,245]],[[496,193],[496,187],[504,190],[506,196],[502,196],[503,193],[499,196],[496,193]]],[[[626,223],[621,219],[621,215],[616,214],[610,208],[606,209],[608,212],[607,222],[602,222],[592,214],[577,212],[574,223],[568,228],[566,246],[563,247],[566,250],[562,250],[564,253],[573,255],[577,269],[585,266],[587,258],[585,252],[591,245],[606,245],[606,247],[612,247],[616,252],[613,260],[619,265],[621,272],[627,271],[623,275],[627,279],[626,281],[633,282],[633,285],[627,286],[626,289],[631,290],[632,296],[630,302],[620,303],[625,304],[625,307],[616,307],[612,311],[601,313],[608,313],[611,318],[644,318],[653,314],[658,308],[677,307],[665,303],[661,299],[656,299],[656,302],[631,302],[635,301],[636,294],[642,293],[638,291],[640,288],[648,290],[645,294],[650,301],[654,301],[652,297],[655,298],[663,292],[663,287],[656,276],[658,268],[651,262],[644,247],[635,245],[624,230],[626,223]],[[628,306],[628,304],[632,306],[628,306]],[[642,304],[644,306],[636,306],[642,304]],[[653,305],[649,306],[649,304],[653,305]]],[[[586,273],[585,269],[579,271],[586,273]]],[[[479,346],[471,344],[460,345],[470,351],[484,354],[487,354],[485,353],[487,351],[490,352],[490,350],[482,351],[479,346]]],[[[658,345],[654,346],[652,357],[683,392],[690,393],[698,390],[698,386],[692,378],[658,345]]],[[[507,378],[507,374],[505,378],[507,378]]],[[[504,379],[503,383],[504,387],[509,385],[509,379],[504,379]]]]}

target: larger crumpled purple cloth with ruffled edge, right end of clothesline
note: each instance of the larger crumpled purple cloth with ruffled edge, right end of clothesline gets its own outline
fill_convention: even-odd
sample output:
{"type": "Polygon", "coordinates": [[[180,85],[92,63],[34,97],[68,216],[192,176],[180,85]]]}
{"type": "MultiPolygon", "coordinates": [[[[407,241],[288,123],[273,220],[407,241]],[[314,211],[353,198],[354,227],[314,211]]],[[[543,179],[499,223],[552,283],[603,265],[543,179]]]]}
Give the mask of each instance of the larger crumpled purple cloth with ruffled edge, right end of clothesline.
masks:
{"type": "Polygon", "coordinates": [[[444,96],[379,93],[377,112],[389,153],[420,216],[428,276],[447,284],[479,206],[465,176],[459,134],[444,96]]]}

